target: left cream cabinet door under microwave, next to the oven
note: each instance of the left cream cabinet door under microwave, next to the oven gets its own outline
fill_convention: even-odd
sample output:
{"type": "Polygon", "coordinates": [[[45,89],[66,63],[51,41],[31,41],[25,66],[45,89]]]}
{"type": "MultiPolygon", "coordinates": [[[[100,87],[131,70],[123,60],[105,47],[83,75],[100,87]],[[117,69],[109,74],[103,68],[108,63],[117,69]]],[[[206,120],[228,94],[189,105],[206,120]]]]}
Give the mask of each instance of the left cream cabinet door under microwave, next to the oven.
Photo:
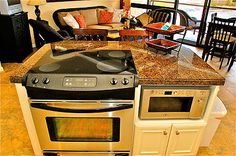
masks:
{"type": "Polygon", "coordinates": [[[135,127],[133,156],[164,156],[171,125],[135,127]]]}

